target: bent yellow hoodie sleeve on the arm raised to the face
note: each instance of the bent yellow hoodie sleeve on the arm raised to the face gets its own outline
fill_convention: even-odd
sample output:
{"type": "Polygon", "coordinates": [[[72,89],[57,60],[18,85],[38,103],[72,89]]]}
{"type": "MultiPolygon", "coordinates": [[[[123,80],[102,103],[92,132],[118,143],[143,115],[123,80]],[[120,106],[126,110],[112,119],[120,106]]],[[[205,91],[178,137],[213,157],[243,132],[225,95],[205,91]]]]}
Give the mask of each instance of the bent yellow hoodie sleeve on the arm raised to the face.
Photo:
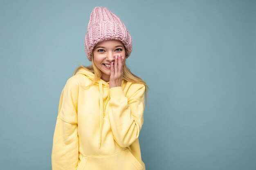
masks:
{"type": "Polygon", "coordinates": [[[121,147],[130,146],[138,137],[143,124],[143,84],[135,84],[132,95],[124,95],[121,86],[110,88],[109,119],[114,139],[121,147]]]}

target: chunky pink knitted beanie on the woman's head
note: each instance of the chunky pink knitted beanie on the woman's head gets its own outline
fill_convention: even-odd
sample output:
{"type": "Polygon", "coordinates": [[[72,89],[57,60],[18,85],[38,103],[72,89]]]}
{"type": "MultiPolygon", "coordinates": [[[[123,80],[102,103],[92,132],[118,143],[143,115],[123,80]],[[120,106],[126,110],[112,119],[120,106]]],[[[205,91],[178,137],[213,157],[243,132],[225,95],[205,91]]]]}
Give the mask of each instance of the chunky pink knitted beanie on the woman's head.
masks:
{"type": "Polygon", "coordinates": [[[85,34],[85,53],[92,61],[92,51],[103,40],[120,40],[126,49],[126,58],[132,52],[132,38],[124,23],[105,7],[95,7],[90,15],[85,34]]]}

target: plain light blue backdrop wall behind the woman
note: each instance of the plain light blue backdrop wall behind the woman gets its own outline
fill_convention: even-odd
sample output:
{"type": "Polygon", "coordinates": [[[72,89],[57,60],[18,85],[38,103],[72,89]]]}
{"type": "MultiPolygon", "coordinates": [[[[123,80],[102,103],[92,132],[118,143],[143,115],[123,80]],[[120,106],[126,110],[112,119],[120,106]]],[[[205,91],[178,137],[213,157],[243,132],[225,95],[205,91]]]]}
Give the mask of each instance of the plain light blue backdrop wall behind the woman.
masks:
{"type": "Polygon", "coordinates": [[[256,169],[256,1],[0,1],[0,167],[50,170],[61,90],[89,16],[130,31],[131,71],[150,86],[146,170],[256,169]]]}

